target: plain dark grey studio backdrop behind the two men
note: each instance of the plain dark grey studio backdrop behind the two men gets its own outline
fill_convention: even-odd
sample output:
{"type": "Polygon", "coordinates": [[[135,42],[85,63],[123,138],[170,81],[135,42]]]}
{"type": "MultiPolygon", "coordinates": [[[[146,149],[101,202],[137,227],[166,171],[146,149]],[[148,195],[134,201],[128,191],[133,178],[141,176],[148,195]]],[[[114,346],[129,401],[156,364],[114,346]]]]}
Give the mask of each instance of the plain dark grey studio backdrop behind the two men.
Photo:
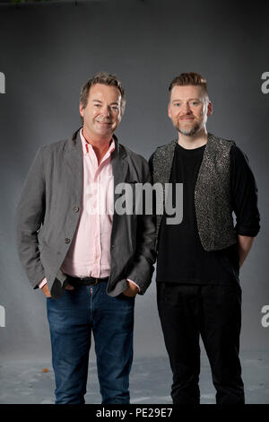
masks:
{"type": "MultiPolygon", "coordinates": [[[[149,158],[176,136],[167,117],[168,85],[184,71],[208,80],[208,129],[236,140],[256,175],[262,230],[241,271],[241,347],[269,354],[268,105],[261,75],[269,71],[266,10],[229,2],[89,1],[0,5],[1,356],[49,356],[46,300],[32,290],[14,244],[13,216],[39,147],[80,126],[79,91],[94,73],[116,73],[126,87],[120,142],[149,158]]],[[[154,278],[135,308],[134,356],[166,355],[154,278]]]]}

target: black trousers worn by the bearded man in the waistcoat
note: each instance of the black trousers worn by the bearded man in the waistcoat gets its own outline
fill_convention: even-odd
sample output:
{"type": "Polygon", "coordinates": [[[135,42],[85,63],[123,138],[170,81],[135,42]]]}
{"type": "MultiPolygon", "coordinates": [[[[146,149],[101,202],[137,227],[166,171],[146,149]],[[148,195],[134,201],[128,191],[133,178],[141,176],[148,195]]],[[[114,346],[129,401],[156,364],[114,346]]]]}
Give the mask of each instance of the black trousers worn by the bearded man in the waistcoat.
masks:
{"type": "Polygon", "coordinates": [[[201,335],[217,391],[216,402],[243,404],[240,286],[157,283],[157,303],[173,373],[173,403],[200,402],[201,335]]]}

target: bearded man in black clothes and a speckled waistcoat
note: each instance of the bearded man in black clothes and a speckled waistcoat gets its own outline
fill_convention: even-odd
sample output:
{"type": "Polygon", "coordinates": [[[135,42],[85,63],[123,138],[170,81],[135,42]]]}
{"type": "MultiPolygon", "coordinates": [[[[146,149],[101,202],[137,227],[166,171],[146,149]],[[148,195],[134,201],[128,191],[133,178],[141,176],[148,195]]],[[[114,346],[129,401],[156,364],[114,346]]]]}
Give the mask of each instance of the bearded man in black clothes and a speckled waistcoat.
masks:
{"type": "Polygon", "coordinates": [[[178,138],[150,159],[154,183],[173,193],[183,183],[181,223],[170,223],[168,209],[157,215],[157,302],[175,404],[199,403],[200,336],[217,403],[244,403],[239,268],[259,231],[257,189],[239,147],[207,133],[212,112],[203,76],[175,77],[168,114],[178,138]]]}

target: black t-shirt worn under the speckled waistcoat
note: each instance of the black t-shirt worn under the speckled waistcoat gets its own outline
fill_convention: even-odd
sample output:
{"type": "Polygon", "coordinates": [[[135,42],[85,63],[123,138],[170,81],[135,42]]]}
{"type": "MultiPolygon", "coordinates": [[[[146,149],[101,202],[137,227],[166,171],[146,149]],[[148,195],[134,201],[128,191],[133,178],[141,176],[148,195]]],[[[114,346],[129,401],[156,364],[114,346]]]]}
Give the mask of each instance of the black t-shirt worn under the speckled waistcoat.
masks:
{"type": "MultiPolygon", "coordinates": [[[[176,145],[169,181],[183,183],[183,220],[180,224],[166,224],[166,214],[161,219],[157,282],[219,285],[239,282],[237,244],[221,251],[204,251],[197,231],[194,192],[204,148],[205,145],[188,150],[176,145]]],[[[235,145],[230,149],[230,191],[237,233],[256,236],[259,231],[256,181],[246,155],[235,145]]]]}

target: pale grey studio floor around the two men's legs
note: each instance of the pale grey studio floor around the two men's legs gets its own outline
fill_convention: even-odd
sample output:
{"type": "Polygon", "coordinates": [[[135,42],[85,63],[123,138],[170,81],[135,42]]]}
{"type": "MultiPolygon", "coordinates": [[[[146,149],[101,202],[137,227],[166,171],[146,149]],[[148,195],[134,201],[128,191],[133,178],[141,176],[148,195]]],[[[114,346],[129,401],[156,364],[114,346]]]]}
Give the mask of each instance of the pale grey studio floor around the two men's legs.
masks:
{"type": "MultiPolygon", "coordinates": [[[[0,365],[0,404],[54,403],[54,373],[47,359],[7,360],[0,365]]],[[[269,353],[241,353],[246,403],[269,404],[269,353]]],[[[134,359],[130,376],[131,403],[171,404],[171,373],[167,357],[134,359]]],[[[207,357],[201,356],[201,403],[213,404],[215,391],[207,357]]],[[[90,359],[86,404],[100,404],[95,362],[90,359]]]]}

